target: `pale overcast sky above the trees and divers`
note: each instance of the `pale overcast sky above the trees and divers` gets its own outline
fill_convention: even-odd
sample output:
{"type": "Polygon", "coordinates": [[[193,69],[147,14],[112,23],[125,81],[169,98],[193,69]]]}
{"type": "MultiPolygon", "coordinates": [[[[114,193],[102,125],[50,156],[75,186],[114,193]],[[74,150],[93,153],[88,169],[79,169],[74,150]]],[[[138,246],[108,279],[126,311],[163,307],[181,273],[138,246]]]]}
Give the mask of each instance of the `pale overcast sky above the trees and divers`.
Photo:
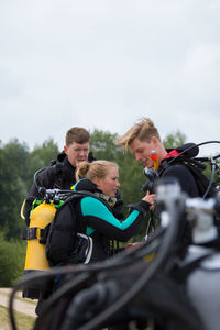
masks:
{"type": "MultiPolygon", "coordinates": [[[[220,0],[1,0],[0,140],[74,125],[220,140],[220,0]]],[[[220,146],[218,145],[220,148],[220,146]]]]}

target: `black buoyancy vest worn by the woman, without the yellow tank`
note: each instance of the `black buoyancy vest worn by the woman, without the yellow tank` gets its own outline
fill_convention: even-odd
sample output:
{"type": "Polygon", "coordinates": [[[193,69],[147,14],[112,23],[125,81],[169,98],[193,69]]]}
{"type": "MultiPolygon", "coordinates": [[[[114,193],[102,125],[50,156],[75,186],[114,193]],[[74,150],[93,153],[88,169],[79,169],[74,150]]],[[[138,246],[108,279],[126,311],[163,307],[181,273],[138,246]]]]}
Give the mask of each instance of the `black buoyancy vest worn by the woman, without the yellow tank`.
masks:
{"type": "MultiPolygon", "coordinates": [[[[46,256],[51,266],[90,262],[92,238],[86,234],[85,221],[80,221],[80,216],[77,218],[80,215],[78,200],[88,196],[100,200],[111,210],[112,198],[107,201],[103,199],[103,194],[87,190],[74,191],[57,210],[50,228],[46,256]]],[[[94,234],[96,235],[96,233],[94,234]]]]}

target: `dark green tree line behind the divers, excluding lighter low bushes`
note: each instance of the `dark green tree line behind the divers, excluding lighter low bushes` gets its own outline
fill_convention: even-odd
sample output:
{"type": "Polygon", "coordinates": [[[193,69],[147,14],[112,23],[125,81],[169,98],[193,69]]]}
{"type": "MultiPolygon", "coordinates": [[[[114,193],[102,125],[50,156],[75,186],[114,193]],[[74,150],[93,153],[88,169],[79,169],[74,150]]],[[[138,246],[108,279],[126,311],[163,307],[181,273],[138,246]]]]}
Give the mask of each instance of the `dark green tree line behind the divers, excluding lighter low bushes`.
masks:
{"type": "MultiPolygon", "coordinates": [[[[143,165],[134,156],[124,153],[114,144],[118,135],[110,132],[94,130],[91,133],[91,151],[97,160],[113,161],[120,168],[120,191],[124,205],[136,202],[143,197],[141,187],[145,182],[143,165]]],[[[165,145],[173,147],[184,143],[186,136],[177,132],[164,140],[165,145]]],[[[25,228],[20,217],[21,206],[33,183],[34,173],[48,166],[52,160],[62,152],[53,139],[46,140],[43,145],[29,150],[26,143],[16,139],[0,144],[0,229],[7,240],[19,239],[21,230],[25,228]]]]}

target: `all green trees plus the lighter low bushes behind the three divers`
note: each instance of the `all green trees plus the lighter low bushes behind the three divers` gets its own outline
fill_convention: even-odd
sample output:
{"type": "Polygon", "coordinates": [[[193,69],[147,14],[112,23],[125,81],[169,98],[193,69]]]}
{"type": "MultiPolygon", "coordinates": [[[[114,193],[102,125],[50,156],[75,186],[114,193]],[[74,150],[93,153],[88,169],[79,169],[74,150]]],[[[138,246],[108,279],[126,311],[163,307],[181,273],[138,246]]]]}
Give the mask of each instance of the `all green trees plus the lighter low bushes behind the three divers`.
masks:
{"type": "MultiPolygon", "coordinates": [[[[123,212],[128,216],[125,206],[140,201],[144,196],[141,187],[146,177],[143,174],[144,166],[138,163],[130,152],[124,153],[114,144],[117,136],[118,134],[94,130],[90,145],[95,158],[113,161],[119,165],[123,212]]],[[[177,131],[175,134],[168,134],[163,143],[166,147],[175,147],[185,141],[186,136],[177,131]]],[[[20,216],[21,207],[35,172],[48,166],[59,152],[62,151],[53,139],[46,140],[32,151],[26,143],[20,143],[18,139],[7,144],[0,142],[0,286],[13,285],[23,274],[26,242],[20,237],[26,226],[20,216]]],[[[143,221],[133,241],[143,238],[146,221],[143,221]]]]}

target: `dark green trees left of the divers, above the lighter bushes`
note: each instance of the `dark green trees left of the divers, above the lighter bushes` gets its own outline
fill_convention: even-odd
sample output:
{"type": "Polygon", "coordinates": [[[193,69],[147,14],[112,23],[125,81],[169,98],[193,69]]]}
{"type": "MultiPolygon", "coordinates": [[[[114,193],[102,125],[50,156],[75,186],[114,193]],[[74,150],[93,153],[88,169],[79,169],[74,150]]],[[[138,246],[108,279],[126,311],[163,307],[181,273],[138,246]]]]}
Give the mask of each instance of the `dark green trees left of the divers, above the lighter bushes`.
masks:
{"type": "Polygon", "coordinates": [[[20,238],[25,226],[20,218],[20,209],[34,173],[50,165],[57,154],[58,147],[52,139],[32,152],[16,139],[0,147],[0,229],[8,240],[20,238]]]}

